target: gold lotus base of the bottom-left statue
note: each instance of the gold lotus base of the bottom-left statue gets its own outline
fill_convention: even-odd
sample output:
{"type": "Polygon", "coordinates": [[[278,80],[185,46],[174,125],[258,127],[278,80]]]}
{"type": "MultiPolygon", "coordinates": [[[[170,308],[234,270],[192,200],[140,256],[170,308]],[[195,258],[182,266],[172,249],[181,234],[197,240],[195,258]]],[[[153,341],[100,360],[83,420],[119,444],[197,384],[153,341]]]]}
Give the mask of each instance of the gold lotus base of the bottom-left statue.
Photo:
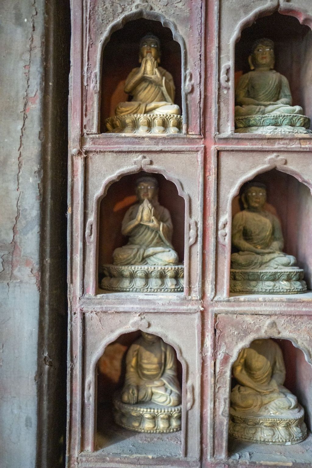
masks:
{"type": "Polygon", "coordinates": [[[131,405],[123,403],[121,392],[113,398],[116,424],[136,432],[177,432],[181,431],[182,406],[161,406],[152,402],[131,405]]]}

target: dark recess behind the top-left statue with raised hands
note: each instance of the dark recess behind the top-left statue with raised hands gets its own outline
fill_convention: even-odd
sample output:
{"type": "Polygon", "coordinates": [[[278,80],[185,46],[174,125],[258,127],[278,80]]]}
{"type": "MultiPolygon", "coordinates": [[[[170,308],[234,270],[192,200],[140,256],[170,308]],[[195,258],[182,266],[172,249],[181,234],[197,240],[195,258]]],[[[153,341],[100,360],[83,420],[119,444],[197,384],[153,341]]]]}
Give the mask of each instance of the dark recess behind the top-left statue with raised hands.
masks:
{"type": "MultiPolygon", "coordinates": [[[[167,22],[166,26],[170,23],[167,22]]],[[[173,27],[173,26],[172,26],[173,27]]],[[[160,21],[138,18],[128,21],[121,29],[115,30],[105,45],[102,54],[101,75],[101,110],[100,131],[107,132],[105,119],[115,115],[115,108],[119,102],[127,101],[128,95],[124,93],[125,80],[131,70],[139,66],[139,43],[146,33],[159,37],[161,44],[160,66],[172,74],[175,84],[175,100],[181,113],[184,111],[182,97],[182,38],[180,43],[174,40],[173,32],[160,21]]],[[[175,36],[179,36],[175,33],[175,36]]],[[[176,39],[178,39],[176,37],[176,39]]]]}

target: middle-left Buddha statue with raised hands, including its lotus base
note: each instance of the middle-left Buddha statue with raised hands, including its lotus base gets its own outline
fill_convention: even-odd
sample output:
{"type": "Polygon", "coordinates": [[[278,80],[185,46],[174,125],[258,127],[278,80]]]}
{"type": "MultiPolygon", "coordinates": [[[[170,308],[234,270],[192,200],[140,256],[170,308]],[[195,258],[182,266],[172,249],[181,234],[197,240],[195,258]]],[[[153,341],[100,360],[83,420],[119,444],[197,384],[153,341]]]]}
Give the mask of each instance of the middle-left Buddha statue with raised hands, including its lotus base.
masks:
{"type": "MultiPolygon", "coordinates": [[[[158,202],[158,190],[155,177],[143,176],[136,181],[138,203],[132,205],[125,213],[121,229],[124,236],[129,236],[129,240],[126,245],[113,252],[113,264],[116,268],[120,267],[120,274],[117,276],[125,277],[122,281],[123,286],[117,285],[116,290],[123,288],[123,291],[141,291],[142,287],[149,292],[153,289],[161,291],[162,288],[174,292],[182,290],[181,284],[175,279],[176,276],[181,278],[182,271],[181,265],[178,269],[174,268],[179,263],[179,257],[171,243],[172,221],[167,208],[158,202]],[[128,265],[129,269],[125,272],[122,267],[128,265]],[[144,269],[139,268],[140,265],[157,265],[163,268],[144,269]],[[138,281],[135,276],[138,276],[138,281]],[[164,278],[166,276],[167,279],[164,278]]],[[[115,272],[116,268],[113,269],[115,272]]],[[[116,274],[111,272],[108,273],[109,276],[116,277],[116,274]]],[[[102,288],[112,290],[112,287],[116,288],[116,281],[104,278],[102,288]]]]}

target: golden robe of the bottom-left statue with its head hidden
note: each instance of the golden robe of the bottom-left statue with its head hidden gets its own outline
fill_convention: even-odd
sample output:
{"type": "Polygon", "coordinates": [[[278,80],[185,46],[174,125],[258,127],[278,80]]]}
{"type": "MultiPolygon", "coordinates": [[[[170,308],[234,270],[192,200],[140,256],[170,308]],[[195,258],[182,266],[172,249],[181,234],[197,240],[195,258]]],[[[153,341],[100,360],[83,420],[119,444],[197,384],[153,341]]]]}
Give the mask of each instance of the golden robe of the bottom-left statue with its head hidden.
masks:
{"type": "Polygon", "coordinates": [[[127,387],[137,386],[138,403],[179,405],[181,388],[176,373],[172,346],[162,339],[148,344],[143,337],[140,337],[130,346],[127,353],[122,401],[128,402],[127,387]]]}

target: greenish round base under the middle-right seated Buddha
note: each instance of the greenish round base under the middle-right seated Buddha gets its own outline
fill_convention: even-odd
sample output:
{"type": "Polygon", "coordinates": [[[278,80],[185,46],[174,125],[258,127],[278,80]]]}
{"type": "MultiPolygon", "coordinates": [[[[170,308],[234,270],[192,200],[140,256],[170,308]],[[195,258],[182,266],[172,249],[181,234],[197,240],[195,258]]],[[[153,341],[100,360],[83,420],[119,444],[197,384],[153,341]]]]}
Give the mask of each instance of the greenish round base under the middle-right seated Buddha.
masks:
{"type": "Polygon", "coordinates": [[[304,271],[232,270],[230,292],[241,294],[300,294],[306,292],[304,271]]]}

